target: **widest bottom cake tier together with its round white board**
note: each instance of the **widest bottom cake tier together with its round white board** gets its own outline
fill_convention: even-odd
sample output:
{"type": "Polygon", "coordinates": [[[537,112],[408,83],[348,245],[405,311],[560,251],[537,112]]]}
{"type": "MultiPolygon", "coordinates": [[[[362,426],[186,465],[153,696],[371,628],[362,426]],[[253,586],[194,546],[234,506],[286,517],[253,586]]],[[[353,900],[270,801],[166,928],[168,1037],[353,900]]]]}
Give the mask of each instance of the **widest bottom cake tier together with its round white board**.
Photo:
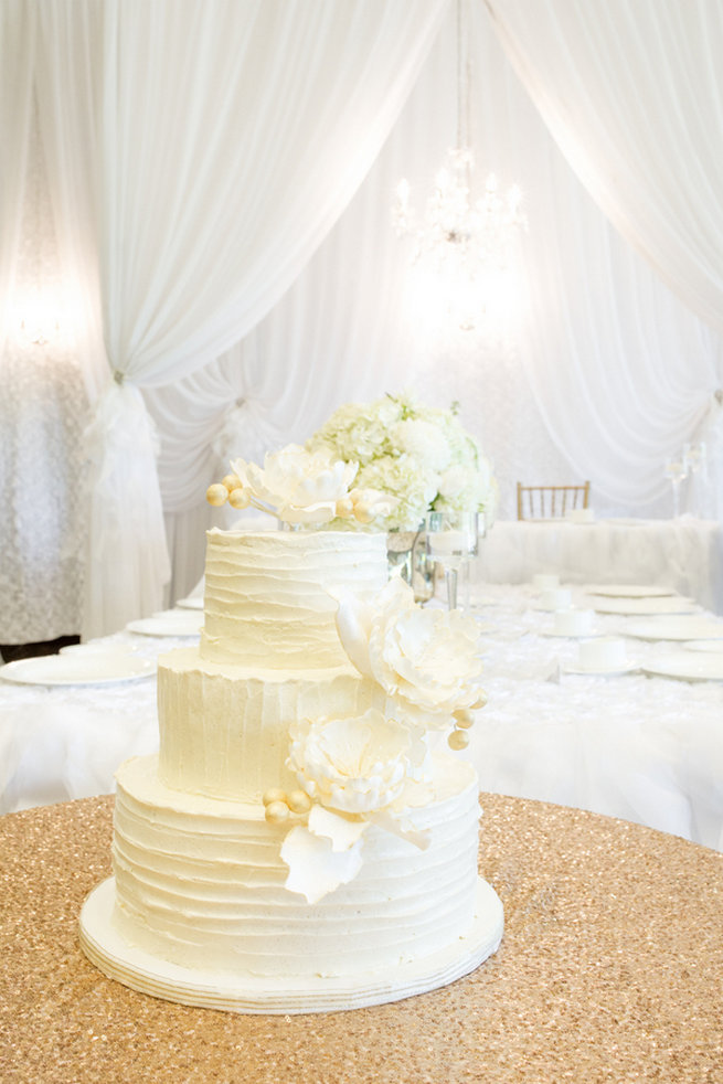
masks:
{"type": "Polygon", "coordinates": [[[477,876],[471,765],[436,762],[436,797],[410,815],[426,850],[371,826],[359,874],[316,904],[284,886],[287,829],[261,805],[169,790],[156,767],[136,758],[118,773],[115,879],[82,916],[86,953],[126,985],[193,1005],[223,989],[217,1007],[238,1011],[321,1011],[432,989],[497,948],[502,912],[477,876]]]}

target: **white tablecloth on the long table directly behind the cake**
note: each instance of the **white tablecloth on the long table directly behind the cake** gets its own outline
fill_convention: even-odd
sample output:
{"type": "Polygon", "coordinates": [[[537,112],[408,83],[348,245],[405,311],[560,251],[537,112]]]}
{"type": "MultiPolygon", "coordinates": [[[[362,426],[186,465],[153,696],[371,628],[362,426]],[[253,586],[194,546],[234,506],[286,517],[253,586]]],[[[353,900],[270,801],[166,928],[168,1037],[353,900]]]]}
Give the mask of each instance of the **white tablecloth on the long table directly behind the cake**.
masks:
{"type": "MultiPolygon", "coordinates": [[[[482,790],[621,817],[723,850],[723,682],[565,673],[574,640],[527,586],[478,585],[487,706],[470,748],[482,790]]],[[[577,597],[583,602],[582,595],[577,597]]],[[[596,616],[595,631],[628,619],[596,616]]],[[[189,640],[131,635],[145,658],[189,640]]],[[[661,645],[628,639],[650,659],[661,645]]],[[[0,812],[109,793],[117,765],[158,747],[156,679],[59,688],[0,681],[0,812]]]]}

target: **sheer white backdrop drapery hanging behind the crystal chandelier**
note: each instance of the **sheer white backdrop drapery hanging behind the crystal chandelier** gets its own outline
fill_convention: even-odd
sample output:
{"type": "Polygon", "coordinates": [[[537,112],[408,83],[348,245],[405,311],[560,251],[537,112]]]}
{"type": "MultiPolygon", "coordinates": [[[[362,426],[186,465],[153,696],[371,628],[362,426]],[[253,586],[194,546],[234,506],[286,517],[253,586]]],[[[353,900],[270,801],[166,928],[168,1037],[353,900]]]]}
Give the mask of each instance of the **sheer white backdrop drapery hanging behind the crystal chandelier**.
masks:
{"type": "MultiPolygon", "coordinates": [[[[491,169],[502,184],[519,180],[530,222],[517,352],[460,332],[434,294],[415,295],[410,248],[390,227],[400,177],[422,210],[455,137],[450,8],[366,180],[294,286],[222,361],[147,394],[162,438],[170,536],[184,540],[182,553],[173,549],[180,593],[201,571],[209,513],[199,501],[228,458],[219,460],[214,446],[255,457],[304,439],[345,400],[405,385],[427,402],[460,401],[496,461],[503,516],[514,514],[517,478],[589,478],[598,513],[670,513],[662,465],[717,417],[721,339],[613,227],[551,138],[487,10],[479,4],[472,17],[478,183],[491,169]]],[[[711,464],[710,475],[709,496],[721,467],[711,464]]],[[[710,500],[691,510],[716,514],[710,500]]]]}

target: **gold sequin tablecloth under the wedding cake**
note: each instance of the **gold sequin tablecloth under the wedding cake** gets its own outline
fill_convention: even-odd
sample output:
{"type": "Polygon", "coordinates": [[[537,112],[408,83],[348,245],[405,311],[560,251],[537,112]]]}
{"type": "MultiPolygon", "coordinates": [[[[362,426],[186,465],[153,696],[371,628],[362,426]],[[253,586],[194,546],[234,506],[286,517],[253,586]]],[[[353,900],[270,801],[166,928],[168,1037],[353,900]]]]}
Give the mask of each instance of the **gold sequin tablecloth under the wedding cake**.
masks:
{"type": "Polygon", "coordinates": [[[0,1081],[723,1082],[723,855],[560,806],[481,804],[498,954],[432,993],[295,1017],[158,1001],[85,959],[77,917],[109,872],[113,798],[0,818],[0,1081]]]}

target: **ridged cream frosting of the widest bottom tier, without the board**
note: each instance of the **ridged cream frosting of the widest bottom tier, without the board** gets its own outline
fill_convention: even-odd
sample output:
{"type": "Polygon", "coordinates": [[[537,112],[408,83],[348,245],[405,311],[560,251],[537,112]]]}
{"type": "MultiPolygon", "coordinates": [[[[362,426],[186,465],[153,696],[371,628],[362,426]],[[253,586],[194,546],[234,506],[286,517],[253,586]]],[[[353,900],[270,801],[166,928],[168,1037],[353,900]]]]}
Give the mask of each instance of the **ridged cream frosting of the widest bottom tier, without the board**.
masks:
{"type": "Polygon", "coordinates": [[[160,959],[261,976],[393,968],[454,943],[471,926],[477,883],[474,767],[435,759],[435,798],[413,809],[421,850],[375,826],[348,885],[320,902],[289,892],[285,827],[263,808],[179,795],[156,757],[118,772],[114,871],[117,929],[160,959]]]}

